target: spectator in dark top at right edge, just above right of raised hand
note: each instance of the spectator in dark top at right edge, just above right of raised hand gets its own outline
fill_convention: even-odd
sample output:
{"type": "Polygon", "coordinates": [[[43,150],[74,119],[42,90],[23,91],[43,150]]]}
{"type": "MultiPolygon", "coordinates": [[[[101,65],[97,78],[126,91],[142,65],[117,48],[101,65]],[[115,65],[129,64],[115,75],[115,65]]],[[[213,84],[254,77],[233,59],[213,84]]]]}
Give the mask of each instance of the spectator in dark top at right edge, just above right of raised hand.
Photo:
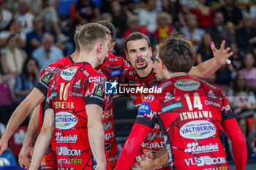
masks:
{"type": "Polygon", "coordinates": [[[244,15],[243,26],[236,31],[236,41],[243,53],[252,52],[256,47],[256,29],[252,28],[249,14],[244,15]]]}

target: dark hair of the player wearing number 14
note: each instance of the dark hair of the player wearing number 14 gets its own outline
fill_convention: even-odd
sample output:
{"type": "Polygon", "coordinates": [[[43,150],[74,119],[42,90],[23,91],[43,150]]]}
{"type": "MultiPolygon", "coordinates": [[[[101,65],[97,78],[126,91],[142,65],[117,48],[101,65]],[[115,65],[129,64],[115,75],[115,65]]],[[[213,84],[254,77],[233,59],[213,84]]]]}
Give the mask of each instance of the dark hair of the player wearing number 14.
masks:
{"type": "Polygon", "coordinates": [[[195,51],[191,42],[170,37],[159,46],[159,58],[169,72],[189,72],[195,63],[195,51]]]}

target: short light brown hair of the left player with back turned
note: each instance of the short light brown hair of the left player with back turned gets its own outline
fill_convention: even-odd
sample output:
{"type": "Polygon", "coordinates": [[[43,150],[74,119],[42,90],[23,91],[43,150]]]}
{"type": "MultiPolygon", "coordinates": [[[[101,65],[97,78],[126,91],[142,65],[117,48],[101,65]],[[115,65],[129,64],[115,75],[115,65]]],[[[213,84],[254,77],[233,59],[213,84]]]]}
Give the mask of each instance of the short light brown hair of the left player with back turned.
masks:
{"type": "Polygon", "coordinates": [[[81,26],[78,34],[78,43],[80,50],[86,47],[87,50],[92,50],[97,42],[108,40],[110,31],[105,26],[99,23],[86,23],[81,26]]]}

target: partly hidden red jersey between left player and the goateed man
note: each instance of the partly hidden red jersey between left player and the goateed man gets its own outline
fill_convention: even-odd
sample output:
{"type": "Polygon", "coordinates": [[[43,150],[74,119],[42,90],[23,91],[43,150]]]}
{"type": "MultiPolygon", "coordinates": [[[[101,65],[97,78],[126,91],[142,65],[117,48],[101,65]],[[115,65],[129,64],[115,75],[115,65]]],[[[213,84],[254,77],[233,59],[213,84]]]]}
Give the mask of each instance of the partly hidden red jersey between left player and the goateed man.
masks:
{"type": "MultiPolygon", "coordinates": [[[[120,77],[121,72],[124,69],[130,67],[129,63],[124,60],[122,57],[117,57],[112,53],[108,53],[108,58],[105,59],[102,65],[97,67],[98,72],[107,77],[108,81],[117,81],[120,77]]],[[[113,95],[107,95],[107,106],[104,111],[103,117],[103,127],[105,130],[105,149],[108,154],[108,164],[110,164],[111,168],[114,169],[116,166],[116,161],[118,159],[118,147],[116,144],[116,136],[115,136],[115,129],[114,129],[114,119],[113,119],[113,95]]]]}

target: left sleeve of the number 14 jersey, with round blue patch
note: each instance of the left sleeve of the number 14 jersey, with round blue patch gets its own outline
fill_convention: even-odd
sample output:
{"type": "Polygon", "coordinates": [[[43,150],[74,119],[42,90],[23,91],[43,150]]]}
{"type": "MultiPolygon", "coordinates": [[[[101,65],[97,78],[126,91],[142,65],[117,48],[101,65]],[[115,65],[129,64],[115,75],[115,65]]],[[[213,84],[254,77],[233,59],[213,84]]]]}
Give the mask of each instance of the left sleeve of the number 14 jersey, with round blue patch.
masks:
{"type": "Polygon", "coordinates": [[[140,105],[135,123],[154,128],[157,122],[157,96],[149,94],[140,105]]]}

